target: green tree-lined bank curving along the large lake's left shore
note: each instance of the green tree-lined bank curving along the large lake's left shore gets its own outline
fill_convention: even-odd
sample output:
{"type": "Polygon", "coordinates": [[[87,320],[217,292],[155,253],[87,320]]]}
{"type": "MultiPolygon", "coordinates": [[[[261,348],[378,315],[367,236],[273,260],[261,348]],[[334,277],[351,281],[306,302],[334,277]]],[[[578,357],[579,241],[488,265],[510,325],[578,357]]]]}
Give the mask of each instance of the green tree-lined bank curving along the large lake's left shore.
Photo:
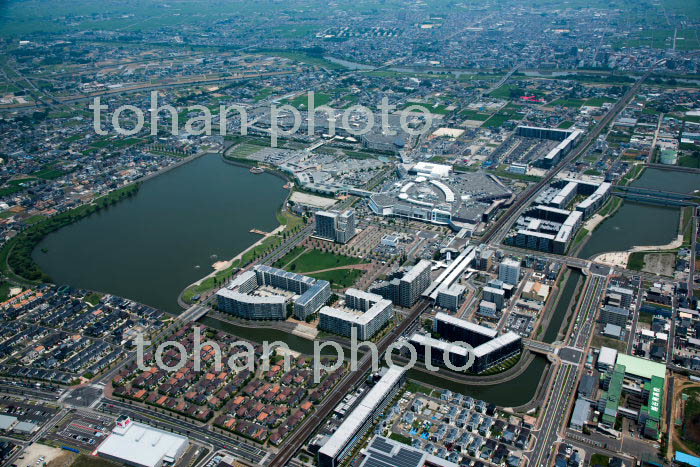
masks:
{"type": "Polygon", "coordinates": [[[107,209],[119,201],[134,196],[139,184],[128,185],[97,198],[89,204],[40,220],[8,240],[0,249],[0,270],[19,282],[48,282],[50,278],[32,259],[32,251],[48,234],[107,209]]]}

